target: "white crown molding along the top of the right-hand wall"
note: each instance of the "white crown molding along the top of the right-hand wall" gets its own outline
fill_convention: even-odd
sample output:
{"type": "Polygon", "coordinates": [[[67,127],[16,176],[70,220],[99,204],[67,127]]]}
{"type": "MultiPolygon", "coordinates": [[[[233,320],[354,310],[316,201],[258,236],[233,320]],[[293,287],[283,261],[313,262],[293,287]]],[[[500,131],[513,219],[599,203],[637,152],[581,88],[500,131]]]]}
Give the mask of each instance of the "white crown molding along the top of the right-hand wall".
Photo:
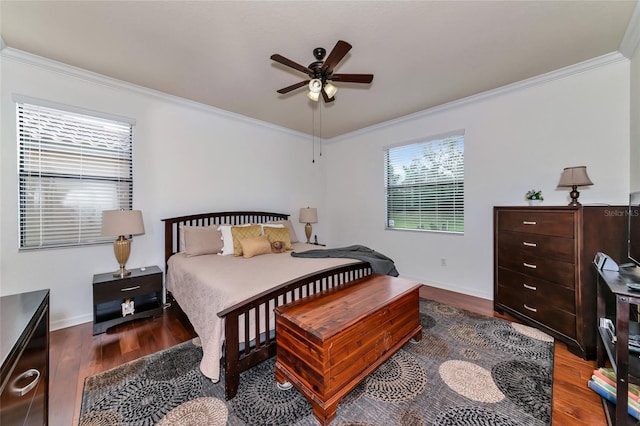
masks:
{"type": "Polygon", "coordinates": [[[597,58],[593,58],[584,62],[577,63],[575,65],[570,65],[568,67],[560,68],[559,70],[556,70],[556,71],[540,74],[538,76],[531,77],[526,80],[522,80],[516,83],[508,84],[506,86],[498,87],[497,89],[488,90],[486,92],[478,93],[476,95],[471,95],[466,98],[451,101],[446,104],[428,108],[413,114],[404,115],[402,117],[398,117],[393,120],[385,121],[384,123],[379,123],[379,124],[374,124],[373,126],[364,127],[362,129],[355,130],[350,133],[345,133],[344,135],[339,135],[331,139],[323,140],[323,142],[325,143],[340,142],[345,139],[361,136],[373,131],[384,129],[386,127],[392,127],[407,121],[421,119],[421,118],[428,117],[433,114],[438,114],[453,108],[459,108],[459,107],[470,105],[476,102],[485,101],[487,99],[490,99],[496,96],[502,96],[507,93],[516,92],[519,90],[539,86],[542,84],[547,84],[552,81],[560,80],[575,74],[580,74],[586,71],[590,71],[593,69],[597,69],[609,64],[614,64],[622,61],[628,61],[628,59],[625,56],[623,56],[621,53],[619,52],[608,53],[606,55],[598,56],[597,58]]]}

